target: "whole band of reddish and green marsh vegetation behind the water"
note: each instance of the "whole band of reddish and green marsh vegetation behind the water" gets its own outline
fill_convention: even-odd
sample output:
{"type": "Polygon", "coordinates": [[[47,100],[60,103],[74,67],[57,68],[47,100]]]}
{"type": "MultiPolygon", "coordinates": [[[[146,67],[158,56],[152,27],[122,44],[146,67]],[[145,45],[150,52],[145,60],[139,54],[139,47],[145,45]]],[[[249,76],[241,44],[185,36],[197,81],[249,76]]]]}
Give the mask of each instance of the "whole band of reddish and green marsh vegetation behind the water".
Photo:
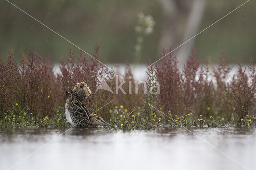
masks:
{"type": "MultiPolygon", "coordinates": [[[[98,59],[99,46],[94,49],[93,56],[98,59]]],[[[166,53],[163,51],[162,56],[166,53]]],[[[69,49],[67,61],[60,62],[60,74],[55,75],[50,59],[30,51],[18,65],[9,54],[7,63],[0,63],[0,126],[70,127],[64,111],[65,91],[82,81],[92,90],[92,95],[84,101],[91,112],[115,100],[94,114],[116,128],[256,125],[256,70],[252,60],[248,69],[238,64],[230,82],[226,80],[231,67],[224,54],[216,67],[211,63],[201,64],[194,49],[182,70],[177,63],[176,56],[170,53],[160,64],[150,65],[145,84],[140,84],[136,93],[130,64],[126,64],[125,74],[120,75],[86,58],[82,51],[77,56],[69,49]],[[127,94],[96,90],[102,78],[112,92],[118,88],[117,81],[118,84],[126,81],[122,88],[127,94]],[[158,88],[160,93],[154,93],[158,88]]]]}

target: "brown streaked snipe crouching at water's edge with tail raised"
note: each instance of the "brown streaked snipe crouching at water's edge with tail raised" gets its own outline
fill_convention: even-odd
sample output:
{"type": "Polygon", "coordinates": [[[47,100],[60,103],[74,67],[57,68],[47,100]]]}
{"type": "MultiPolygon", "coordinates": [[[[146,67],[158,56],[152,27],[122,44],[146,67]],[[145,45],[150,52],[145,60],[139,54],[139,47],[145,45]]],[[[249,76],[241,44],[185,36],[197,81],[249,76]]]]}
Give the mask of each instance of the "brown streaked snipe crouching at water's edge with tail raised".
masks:
{"type": "Polygon", "coordinates": [[[76,83],[71,92],[66,91],[65,113],[68,122],[77,127],[93,128],[98,125],[113,127],[100,116],[90,113],[89,109],[82,103],[92,91],[84,82],[76,83]]]}

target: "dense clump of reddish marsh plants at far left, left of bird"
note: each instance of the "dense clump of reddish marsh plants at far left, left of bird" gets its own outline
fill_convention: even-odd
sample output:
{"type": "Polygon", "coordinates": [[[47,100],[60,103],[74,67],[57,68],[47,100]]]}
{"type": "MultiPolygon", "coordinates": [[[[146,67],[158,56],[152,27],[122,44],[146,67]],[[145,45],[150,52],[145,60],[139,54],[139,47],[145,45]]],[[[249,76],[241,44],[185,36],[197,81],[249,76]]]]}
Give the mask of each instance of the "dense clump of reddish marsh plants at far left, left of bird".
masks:
{"type": "Polygon", "coordinates": [[[54,74],[50,61],[45,62],[42,56],[30,51],[18,67],[9,54],[7,64],[0,64],[0,72],[1,115],[11,111],[12,106],[42,115],[54,112],[54,74]]]}

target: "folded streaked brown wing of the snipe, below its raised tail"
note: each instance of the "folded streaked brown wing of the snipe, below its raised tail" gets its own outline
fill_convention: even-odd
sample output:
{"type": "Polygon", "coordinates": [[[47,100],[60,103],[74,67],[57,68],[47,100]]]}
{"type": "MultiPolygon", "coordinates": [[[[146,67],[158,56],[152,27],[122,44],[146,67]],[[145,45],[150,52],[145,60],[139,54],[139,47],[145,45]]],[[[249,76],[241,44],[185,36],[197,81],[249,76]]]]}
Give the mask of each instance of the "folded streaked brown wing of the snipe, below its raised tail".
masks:
{"type": "Polygon", "coordinates": [[[89,109],[84,106],[84,104],[74,97],[73,91],[71,91],[71,100],[72,103],[74,104],[76,113],[78,113],[81,117],[83,117],[85,120],[90,121],[91,120],[91,113],[89,109]]]}

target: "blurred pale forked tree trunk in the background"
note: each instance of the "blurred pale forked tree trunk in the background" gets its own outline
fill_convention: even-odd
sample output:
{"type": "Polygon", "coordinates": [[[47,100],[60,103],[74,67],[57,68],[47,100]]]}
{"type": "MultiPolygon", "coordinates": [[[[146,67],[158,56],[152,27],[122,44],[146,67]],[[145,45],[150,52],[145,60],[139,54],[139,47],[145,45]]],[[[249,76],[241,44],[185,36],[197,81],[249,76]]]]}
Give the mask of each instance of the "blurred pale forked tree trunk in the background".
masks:
{"type": "MultiPolygon", "coordinates": [[[[204,14],[206,0],[160,0],[164,9],[164,21],[159,49],[172,49],[196,35],[204,14]],[[186,18],[188,18],[186,20],[186,18]],[[184,25],[186,25],[184,27],[184,25]],[[183,37],[183,38],[182,38],[183,37]]],[[[179,66],[183,65],[194,44],[191,39],[175,51],[179,66]],[[177,53],[178,52],[178,53],[177,53]]]]}

